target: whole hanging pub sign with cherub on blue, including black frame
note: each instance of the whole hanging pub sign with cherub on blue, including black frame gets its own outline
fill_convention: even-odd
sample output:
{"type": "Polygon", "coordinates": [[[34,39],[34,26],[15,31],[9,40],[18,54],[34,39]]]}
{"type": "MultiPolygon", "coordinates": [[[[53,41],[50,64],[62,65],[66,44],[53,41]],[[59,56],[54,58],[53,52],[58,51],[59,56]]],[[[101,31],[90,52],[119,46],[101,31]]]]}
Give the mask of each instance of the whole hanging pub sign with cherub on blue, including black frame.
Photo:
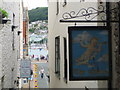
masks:
{"type": "Polygon", "coordinates": [[[70,80],[108,80],[110,41],[106,27],[68,27],[70,80]]]}

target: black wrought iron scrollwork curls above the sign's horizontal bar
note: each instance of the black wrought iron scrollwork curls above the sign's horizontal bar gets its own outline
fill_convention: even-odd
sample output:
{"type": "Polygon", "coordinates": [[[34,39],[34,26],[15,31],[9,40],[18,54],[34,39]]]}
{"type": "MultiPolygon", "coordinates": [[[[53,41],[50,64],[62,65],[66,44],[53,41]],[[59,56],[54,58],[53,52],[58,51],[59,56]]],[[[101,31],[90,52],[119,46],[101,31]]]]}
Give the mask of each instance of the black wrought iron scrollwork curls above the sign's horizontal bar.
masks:
{"type": "MultiPolygon", "coordinates": [[[[88,7],[87,9],[82,8],[80,9],[77,13],[75,11],[71,12],[65,12],[62,17],[63,19],[73,19],[73,18],[79,18],[79,17],[84,17],[85,20],[93,20],[100,14],[106,14],[105,7],[103,5],[100,5],[98,9],[95,9],[93,7],[88,7]]],[[[105,17],[102,15],[101,20],[105,19],[105,17]]]]}

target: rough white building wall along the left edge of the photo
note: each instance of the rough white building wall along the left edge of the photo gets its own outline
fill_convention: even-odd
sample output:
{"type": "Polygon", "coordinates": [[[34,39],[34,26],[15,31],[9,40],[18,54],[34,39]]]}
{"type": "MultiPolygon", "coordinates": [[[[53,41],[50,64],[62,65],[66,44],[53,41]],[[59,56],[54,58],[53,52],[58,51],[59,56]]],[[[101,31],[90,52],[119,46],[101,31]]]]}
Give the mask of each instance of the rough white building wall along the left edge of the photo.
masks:
{"type": "Polygon", "coordinates": [[[0,89],[17,88],[17,64],[23,57],[22,2],[0,0],[0,8],[8,12],[8,23],[0,24],[0,89]]]}

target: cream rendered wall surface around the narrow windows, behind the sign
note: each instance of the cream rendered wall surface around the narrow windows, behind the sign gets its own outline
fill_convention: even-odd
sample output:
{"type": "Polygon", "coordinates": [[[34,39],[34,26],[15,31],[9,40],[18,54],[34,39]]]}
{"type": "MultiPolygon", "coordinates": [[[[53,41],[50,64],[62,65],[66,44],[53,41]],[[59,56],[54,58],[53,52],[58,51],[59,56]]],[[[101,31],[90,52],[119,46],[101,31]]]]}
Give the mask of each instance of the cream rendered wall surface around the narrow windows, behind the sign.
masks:
{"type": "MultiPolygon", "coordinates": [[[[54,0],[55,1],[55,0],[54,0]]],[[[60,0],[58,0],[60,1],[60,0]]],[[[64,1],[64,0],[61,0],[64,1]]],[[[69,1],[69,0],[67,0],[69,1]]],[[[56,15],[57,12],[57,3],[51,2],[49,0],[48,5],[48,29],[49,29],[49,70],[50,70],[50,88],[98,88],[99,83],[103,84],[101,88],[106,87],[106,82],[98,81],[69,81],[69,48],[67,46],[67,69],[68,69],[68,79],[67,84],[64,81],[64,41],[63,37],[67,38],[68,45],[68,26],[75,26],[75,23],[60,23],[60,19],[62,19],[62,15],[65,12],[75,11],[78,12],[81,8],[94,7],[97,8],[98,3],[93,2],[68,2],[66,6],[63,7],[63,2],[59,2],[59,14],[56,15]],[[60,36],[60,80],[55,75],[55,37],[60,36]]],[[[97,19],[97,18],[96,18],[97,19]]],[[[77,26],[97,26],[97,23],[77,23],[77,26]]]]}

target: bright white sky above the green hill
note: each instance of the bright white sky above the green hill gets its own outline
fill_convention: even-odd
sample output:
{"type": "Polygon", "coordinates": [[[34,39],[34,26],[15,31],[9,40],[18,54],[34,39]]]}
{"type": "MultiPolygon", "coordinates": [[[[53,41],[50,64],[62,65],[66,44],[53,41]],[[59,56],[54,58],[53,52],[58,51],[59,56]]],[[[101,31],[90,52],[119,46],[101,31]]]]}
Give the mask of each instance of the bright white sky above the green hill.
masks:
{"type": "Polygon", "coordinates": [[[24,6],[28,7],[28,10],[36,7],[48,7],[47,0],[23,0],[24,6]]]}

